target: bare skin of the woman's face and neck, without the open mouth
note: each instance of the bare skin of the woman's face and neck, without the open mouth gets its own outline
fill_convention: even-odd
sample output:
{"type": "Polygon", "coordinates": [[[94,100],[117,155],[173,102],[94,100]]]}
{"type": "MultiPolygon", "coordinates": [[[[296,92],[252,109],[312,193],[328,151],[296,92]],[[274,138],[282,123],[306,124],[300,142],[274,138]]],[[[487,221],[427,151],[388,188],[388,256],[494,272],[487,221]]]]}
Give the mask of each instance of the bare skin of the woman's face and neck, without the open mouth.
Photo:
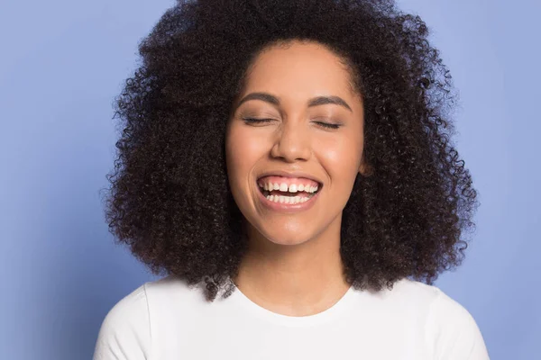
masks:
{"type": "Polygon", "coordinates": [[[365,168],[362,96],[350,84],[351,75],[334,52],[292,40],[255,58],[234,103],[225,139],[227,174],[249,243],[234,283],[267,310],[316,314],[350,287],[340,257],[342,211],[365,168]],[[271,94],[279,103],[243,101],[252,93],[271,94]],[[338,96],[350,109],[335,103],[308,106],[316,96],[338,96]],[[249,123],[244,117],[271,121],[249,123]],[[329,129],[318,121],[341,126],[329,129]],[[323,188],[314,206],[296,213],[265,207],[256,181],[273,170],[316,176],[323,188]]]}

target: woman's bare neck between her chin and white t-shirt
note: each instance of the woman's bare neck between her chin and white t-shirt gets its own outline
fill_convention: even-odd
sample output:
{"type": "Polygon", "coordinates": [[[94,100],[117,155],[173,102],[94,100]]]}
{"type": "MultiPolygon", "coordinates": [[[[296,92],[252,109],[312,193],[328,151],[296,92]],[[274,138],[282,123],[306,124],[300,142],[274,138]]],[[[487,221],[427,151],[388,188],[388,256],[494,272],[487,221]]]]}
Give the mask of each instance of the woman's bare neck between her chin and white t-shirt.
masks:
{"type": "Polygon", "coordinates": [[[247,231],[249,249],[234,284],[252,302],[289,316],[325,311],[350,288],[340,256],[340,221],[316,238],[280,245],[247,231]]]}

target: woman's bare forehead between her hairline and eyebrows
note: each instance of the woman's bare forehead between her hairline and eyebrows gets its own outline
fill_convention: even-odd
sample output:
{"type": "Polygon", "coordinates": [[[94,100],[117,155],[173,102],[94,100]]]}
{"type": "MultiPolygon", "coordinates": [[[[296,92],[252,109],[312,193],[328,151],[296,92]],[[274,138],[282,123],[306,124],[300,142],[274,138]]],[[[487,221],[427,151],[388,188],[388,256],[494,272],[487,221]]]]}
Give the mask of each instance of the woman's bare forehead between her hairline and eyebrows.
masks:
{"type": "Polygon", "coordinates": [[[245,92],[269,91],[306,98],[316,94],[348,95],[351,77],[335,53],[316,43],[273,45],[254,59],[245,92]]]}

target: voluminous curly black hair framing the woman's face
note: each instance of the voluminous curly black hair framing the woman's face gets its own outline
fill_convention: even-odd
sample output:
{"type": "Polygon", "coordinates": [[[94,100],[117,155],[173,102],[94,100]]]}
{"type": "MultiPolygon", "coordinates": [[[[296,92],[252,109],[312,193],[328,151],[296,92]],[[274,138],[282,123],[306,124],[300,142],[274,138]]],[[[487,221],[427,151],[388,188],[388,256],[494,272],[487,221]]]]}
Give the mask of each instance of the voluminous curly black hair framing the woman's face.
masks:
{"type": "Polygon", "coordinates": [[[347,282],[433,284],[462,263],[479,203],[452,142],[458,94],[428,34],[390,0],[179,0],[115,98],[123,127],[105,214],[116,241],[155,275],[205,280],[208,301],[229,296],[247,249],[225,166],[232,104],[263,49],[316,41],[350,65],[364,101],[371,173],[343,211],[347,282]]]}

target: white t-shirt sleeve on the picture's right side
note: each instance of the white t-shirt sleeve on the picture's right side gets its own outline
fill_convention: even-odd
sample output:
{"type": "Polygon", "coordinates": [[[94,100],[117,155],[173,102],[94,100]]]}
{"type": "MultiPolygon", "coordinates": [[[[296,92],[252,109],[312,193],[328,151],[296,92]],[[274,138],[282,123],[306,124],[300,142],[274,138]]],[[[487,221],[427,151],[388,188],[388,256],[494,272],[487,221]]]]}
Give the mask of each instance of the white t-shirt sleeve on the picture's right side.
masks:
{"type": "Polygon", "coordinates": [[[490,360],[472,314],[440,289],[431,304],[426,331],[434,359],[490,360]]]}

